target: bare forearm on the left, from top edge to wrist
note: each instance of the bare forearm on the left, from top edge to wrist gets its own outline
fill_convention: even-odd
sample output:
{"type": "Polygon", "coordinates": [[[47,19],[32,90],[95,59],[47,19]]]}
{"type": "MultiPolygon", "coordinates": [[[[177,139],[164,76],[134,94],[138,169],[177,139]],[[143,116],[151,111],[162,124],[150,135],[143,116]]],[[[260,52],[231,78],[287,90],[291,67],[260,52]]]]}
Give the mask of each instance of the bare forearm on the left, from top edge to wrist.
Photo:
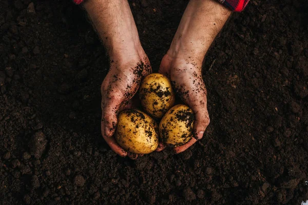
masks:
{"type": "Polygon", "coordinates": [[[91,0],[84,3],[84,8],[110,56],[141,52],[137,27],[127,0],[91,0]]]}

